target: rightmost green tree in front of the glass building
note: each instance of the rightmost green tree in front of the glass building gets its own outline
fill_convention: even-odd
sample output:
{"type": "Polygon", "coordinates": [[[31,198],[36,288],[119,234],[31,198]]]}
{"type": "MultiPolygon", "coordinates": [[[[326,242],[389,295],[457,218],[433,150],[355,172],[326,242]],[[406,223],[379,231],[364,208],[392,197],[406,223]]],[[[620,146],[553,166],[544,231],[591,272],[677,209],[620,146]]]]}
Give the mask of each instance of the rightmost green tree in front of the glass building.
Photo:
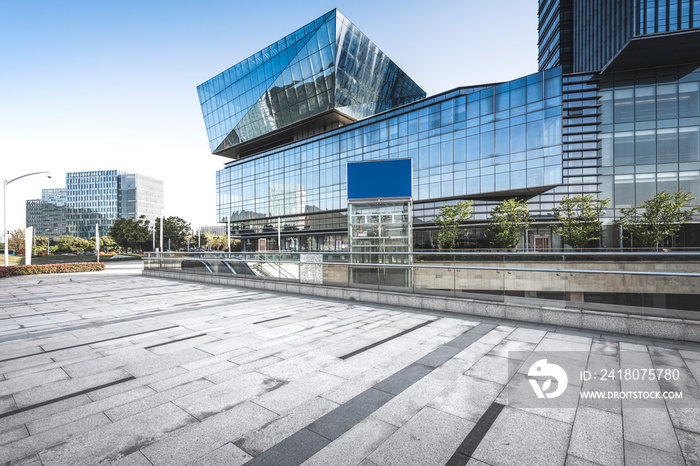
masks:
{"type": "Polygon", "coordinates": [[[666,238],[678,234],[694,213],[700,212],[700,208],[688,206],[693,199],[683,190],[675,194],[662,191],[639,205],[641,214],[636,207],[620,209],[623,217],[619,224],[629,233],[627,239],[641,247],[658,249],[666,238]]]}

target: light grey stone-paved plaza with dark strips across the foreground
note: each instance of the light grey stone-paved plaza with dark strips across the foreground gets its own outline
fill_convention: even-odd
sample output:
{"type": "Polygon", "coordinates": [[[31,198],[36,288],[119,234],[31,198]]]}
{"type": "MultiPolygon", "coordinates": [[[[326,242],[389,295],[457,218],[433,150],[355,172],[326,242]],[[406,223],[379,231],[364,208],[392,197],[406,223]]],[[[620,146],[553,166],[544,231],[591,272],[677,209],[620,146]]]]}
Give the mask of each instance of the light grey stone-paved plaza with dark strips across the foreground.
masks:
{"type": "Polygon", "coordinates": [[[140,268],[0,280],[0,463],[700,464],[696,344],[140,268]],[[539,350],[677,368],[684,404],[512,407],[508,352],[539,350]]]}

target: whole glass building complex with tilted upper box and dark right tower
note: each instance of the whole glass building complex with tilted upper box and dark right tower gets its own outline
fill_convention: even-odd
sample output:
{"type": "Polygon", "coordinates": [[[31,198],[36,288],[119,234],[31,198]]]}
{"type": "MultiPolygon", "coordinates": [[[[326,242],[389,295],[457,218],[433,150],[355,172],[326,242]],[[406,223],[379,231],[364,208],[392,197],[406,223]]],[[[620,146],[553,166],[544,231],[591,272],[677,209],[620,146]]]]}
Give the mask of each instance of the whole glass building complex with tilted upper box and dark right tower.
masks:
{"type": "MultiPolygon", "coordinates": [[[[537,219],[529,247],[560,247],[552,209],[597,193],[617,245],[620,208],[700,193],[697,2],[653,27],[641,8],[670,2],[652,3],[542,0],[538,73],[431,97],[340,12],[323,15],[198,87],[211,151],[233,159],[218,221],[249,251],[344,250],[348,164],[410,159],[416,249],[436,247],[435,215],[462,199],[475,218],[457,246],[488,245],[489,211],[509,197],[537,219]]],[[[693,226],[679,241],[700,245],[693,226]]]]}

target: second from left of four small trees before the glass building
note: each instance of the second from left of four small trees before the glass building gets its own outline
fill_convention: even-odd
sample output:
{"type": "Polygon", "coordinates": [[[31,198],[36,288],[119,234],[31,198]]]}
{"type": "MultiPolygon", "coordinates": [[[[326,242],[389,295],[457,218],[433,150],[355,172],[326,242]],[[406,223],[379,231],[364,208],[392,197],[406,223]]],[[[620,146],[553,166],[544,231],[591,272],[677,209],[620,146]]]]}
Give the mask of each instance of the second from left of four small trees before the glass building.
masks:
{"type": "Polygon", "coordinates": [[[532,217],[527,202],[506,199],[491,209],[491,220],[486,234],[495,246],[514,248],[531,223],[532,217]]]}

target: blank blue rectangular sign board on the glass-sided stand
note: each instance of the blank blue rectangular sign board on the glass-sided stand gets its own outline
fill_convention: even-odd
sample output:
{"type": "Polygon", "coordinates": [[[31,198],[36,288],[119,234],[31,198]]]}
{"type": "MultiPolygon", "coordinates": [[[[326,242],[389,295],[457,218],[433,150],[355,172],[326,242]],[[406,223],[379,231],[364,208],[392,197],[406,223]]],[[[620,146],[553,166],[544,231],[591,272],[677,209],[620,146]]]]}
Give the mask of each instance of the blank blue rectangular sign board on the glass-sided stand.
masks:
{"type": "Polygon", "coordinates": [[[348,199],[412,196],[411,159],[348,163],[348,199]]]}

